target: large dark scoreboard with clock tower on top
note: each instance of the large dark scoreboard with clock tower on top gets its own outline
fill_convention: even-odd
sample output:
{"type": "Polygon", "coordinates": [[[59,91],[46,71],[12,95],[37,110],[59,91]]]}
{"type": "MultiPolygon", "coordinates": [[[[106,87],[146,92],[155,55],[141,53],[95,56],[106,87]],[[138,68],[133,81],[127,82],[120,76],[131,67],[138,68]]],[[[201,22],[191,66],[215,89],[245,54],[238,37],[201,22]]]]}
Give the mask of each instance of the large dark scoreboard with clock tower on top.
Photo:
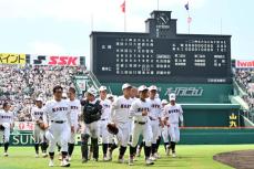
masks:
{"type": "Polygon", "coordinates": [[[170,11],[146,33],[92,32],[91,68],[101,82],[231,83],[231,36],[177,34],[170,11]]]}

